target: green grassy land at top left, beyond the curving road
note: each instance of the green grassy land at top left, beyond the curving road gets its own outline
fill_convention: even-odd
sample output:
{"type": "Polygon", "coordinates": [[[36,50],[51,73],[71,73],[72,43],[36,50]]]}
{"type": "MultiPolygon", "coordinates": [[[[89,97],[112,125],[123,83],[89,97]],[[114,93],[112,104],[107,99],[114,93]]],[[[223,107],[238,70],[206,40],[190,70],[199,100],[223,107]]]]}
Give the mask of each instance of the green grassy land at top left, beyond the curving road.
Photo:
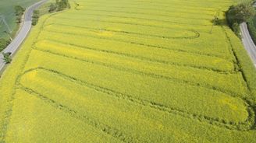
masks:
{"type": "MultiPolygon", "coordinates": [[[[24,8],[34,4],[39,0],[1,0],[0,1],[0,15],[5,16],[6,22],[9,24],[11,30],[16,30],[16,16],[14,13],[14,6],[21,5],[24,8]]],[[[7,37],[3,31],[7,30],[5,25],[0,26],[0,37],[7,37]]]]}

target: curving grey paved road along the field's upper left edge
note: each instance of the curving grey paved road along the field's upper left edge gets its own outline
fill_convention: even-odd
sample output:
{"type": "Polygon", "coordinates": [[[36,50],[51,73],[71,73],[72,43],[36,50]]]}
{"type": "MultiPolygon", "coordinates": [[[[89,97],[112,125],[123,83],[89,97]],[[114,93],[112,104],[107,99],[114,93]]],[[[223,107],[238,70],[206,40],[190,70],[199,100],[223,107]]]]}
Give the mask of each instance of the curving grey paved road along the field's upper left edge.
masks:
{"type": "MultiPolygon", "coordinates": [[[[12,43],[9,44],[8,47],[6,47],[5,50],[2,52],[11,53],[11,56],[12,56],[12,54],[14,54],[19,49],[20,44],[22,44],[23,40],[27,37],[27,34],[30,31],[34,9],[37,9],[46,1],[48,0],[41,0],[40,2],[37,2],[34,5],[31,5],[29,8],[27,8],[24,16],[23,26],[21,27],[15,39],[12,40],[12,43]]],[[[2,54],[0,54],[0,71],[2,71],[4,66],[5,66],[5,62],[3,61],[2,54]]]]}

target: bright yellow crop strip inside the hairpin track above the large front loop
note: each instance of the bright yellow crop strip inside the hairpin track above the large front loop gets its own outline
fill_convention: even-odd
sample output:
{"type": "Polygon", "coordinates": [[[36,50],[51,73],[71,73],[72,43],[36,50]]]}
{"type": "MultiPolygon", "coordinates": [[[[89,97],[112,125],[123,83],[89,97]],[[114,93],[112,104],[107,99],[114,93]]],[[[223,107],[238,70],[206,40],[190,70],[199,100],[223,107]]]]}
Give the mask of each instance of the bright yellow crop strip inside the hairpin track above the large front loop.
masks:
{"type": "MultiPolygon", "coordinates": [[[[246,91],[243,82],[238,82],[242,79],[240,73],[234,72],[230,74],[222,74],[219,72],[191,68],[190,66],[181,66],[175,63],[172,66],[162,65],[162,62],[158,64],[159,61],[157,62],[152,58],[101,50],[93,47],[80,47],[70,44],[62,44],[51,40],[38,42],[35,46],[41,51],[63,54],[82,61],[91,60],[107,63],[109,65],[118,65],[123,68],[129,67],[131,69],[139,70],[140,72],[160,74],[158,76],[162,78],[176,78],[182,81],[194,82],[195,85],[207,85],[211,89],[235,92],[235,94],[244,94],[244,91],[246,91]],[[98,57],[97,55],[101,56],[98,57]],[[236,85],[233,85],[234,82],[236,82],[236,85]]],[[[172,55],[172,57],[175,56],[175,54],[172,55]]]]}

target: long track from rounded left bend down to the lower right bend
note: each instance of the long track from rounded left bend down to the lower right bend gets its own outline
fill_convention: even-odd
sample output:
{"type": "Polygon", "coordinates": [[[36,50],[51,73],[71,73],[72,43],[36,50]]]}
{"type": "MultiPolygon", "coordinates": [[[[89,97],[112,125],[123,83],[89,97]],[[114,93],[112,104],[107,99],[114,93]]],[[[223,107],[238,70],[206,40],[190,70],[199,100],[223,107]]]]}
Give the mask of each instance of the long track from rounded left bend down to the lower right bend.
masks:
{"type": "MultiPolygon", "coordinates": [[[[186,118],[189,118],[189,119],[198,120],[198,121],[201,121],[201,122],[206,122],[208,124],[216,125],[218,127],[226,127],[227,129],[230,129],[230,130],[239,130],[239,131],[250,130],[251,129],[251,124],[250,123],[254,121],[254,120],[249,120],[249,119],[251,119],[251,117],[248,117],[248,119],[244,122],[233,123],[233,122],[228,121],[228,120],[223,120],[223,119],[213,118],[213,117],[207,117],[207,116],[204,116],[204,115],[197,115],[196,113],[189,113],[189,112],[186,112],[186,111],[183,111],[183,110],[180,110],[180,109],[176,109],[176,108],[173,108],[173,107],[165,106],[165,105],[162,105],[162,104],[159,104],[159,103],[147,101],[147,100],[144,100],[144,99],[139,99],[139,98],[136,98],[134,96],[127,95],[127,94],[124,94],[124,93],[121,93],[121,92],[116,92],[115,90],[108,89],[108,88],[105,88],[105,87],[101,87],[99,85],[94,85],[94,84],[91,84],[89,82],[85,82],[85,81],[82,81],[80,79],[73,78],[69,75],[65,75],[65,74],[62,74],[61,72],[58,72],[58,71],[55,71],[55,70],[52,70],[52,69],[48,69],[48,68],[42,68],[42,67],[32,68],[32,69],[29,69],[26,72],[24,72],[23,75],[26,75],[29,72],[38,71],[38,70],[42,70],[44,72],[50,72],[54,75],[59,75],[60,77],[66,79],[70,82],[74,82],[76,84],[87,86],[90,89],[94,89],[98,92],[105,93],[108,96],[113,96],[113,97],[116,97],[116,98],[119,98],[119,99],[124,99],[126,101],[139,104],[140,106],[147,106],[149,108],[152,108],[152,109],[155,109],[155,110],[158,110],[158,111],[162,111],[162,112],[165,112],[165,113],[172,113],[172,114],[176,114],[176,115],[186,117],[186,118]],[[241,130],[241,127],[244,127],[244,130],[241,130]]],[[[22,77],[22,75],[21,75],[21,77],[22,77]]],[[[22,83],[20,83],[20,85],[22,85],[22,83]]],[[[24,85],[22,85],[22,86],[23,86],[22,89],[24,89],[24,88],[28,89],[24,85]]],[[[33,89],[30,89],[30,90],[33,91],[33,89]]],[[[41,95],[40,93],[37,93],[37,94],[41,95]]],[[[47,98],[47,97],[45,97],[45,98],[47,98]]],[[[52,99],[50,99],[50,100],[52,100],[52,99]]],[[[60,104],[60,103],[58,103],[58,104],[60,104]]],[[[251,107],[247,106],[247,108],[251,108],[251,107]]],[[[252,110],[248,109],[249,115],[254,116],[254,113],[251,113],[251,112],[252,112],[252,110]]]]}

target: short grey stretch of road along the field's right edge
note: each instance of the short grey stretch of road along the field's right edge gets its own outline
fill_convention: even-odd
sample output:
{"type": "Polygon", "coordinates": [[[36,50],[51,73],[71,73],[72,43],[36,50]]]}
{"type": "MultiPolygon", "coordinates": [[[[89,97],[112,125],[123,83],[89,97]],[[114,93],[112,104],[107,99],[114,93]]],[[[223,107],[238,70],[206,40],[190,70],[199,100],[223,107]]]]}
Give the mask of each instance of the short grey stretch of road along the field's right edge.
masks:
{"type": "Polygon", "coordinates": [[[254,66],[256,67],[256,46],[254,44],[254,41],[251,39],[250,33],[247,29],[247,24],[242,23],[240,29],[242,33],[242,41],[244,47],[247,50],[247,53],[249,54],[251,60],[253,61],[254,66]]]}

